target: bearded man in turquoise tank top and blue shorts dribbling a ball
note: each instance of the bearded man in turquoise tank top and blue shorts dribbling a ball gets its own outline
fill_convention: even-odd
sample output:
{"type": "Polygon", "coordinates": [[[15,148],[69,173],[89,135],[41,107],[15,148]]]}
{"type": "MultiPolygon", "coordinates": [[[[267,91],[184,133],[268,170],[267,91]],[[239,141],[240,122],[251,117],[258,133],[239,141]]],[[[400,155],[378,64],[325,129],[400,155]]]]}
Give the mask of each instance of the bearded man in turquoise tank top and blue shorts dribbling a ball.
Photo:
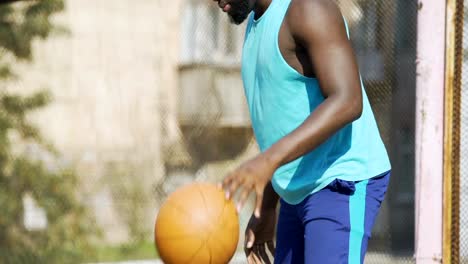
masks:
{"type": "Polygon", "coordinates": [[[275,263],[363,263],[390,162],[338,6],[216,1],[248,18],[242,78],[261,154],[222,183],[238,210],[256,193],[248,262],[269,263],[269,250],[275,263]]]}

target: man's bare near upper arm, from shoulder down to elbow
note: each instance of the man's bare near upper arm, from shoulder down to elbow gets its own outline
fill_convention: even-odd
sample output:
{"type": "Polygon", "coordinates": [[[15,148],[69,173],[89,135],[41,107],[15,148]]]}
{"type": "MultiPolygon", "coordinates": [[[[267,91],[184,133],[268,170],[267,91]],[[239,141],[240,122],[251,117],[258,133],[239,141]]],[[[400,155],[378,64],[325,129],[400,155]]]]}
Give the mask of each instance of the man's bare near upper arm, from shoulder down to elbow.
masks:
{"type": "Polygon", "coordinates": [[[362,101],[358,66],[338,6],[329,0],[293,0],[290,32],[307,51],[325,97],[362,101]]]}

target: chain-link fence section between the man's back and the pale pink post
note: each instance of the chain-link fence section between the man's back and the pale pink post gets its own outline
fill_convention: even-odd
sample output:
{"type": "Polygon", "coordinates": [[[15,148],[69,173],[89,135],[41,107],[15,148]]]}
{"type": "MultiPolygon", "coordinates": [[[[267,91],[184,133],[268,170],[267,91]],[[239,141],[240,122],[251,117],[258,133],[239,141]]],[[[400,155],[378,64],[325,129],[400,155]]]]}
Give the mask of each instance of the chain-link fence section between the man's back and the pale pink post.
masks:
{"type": "Polygon", "coordinates": [[[338,3],[350,21],[366,91],[393,167],[367,262],[412,263],[417,2],[338,3]]]}

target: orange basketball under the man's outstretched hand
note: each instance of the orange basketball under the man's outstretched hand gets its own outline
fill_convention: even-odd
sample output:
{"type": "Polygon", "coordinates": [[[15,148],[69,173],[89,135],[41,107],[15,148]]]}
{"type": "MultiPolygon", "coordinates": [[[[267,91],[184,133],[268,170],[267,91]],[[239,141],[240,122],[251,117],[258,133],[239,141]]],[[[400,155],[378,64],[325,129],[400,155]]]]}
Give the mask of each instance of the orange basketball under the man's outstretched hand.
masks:
{"type": "Polygon", "coordinates": [[[166,264],[226,264],[238,241],[234,203],[215,185],[194,183],[178,189],[156,219],[156,248],[166,264]]]}

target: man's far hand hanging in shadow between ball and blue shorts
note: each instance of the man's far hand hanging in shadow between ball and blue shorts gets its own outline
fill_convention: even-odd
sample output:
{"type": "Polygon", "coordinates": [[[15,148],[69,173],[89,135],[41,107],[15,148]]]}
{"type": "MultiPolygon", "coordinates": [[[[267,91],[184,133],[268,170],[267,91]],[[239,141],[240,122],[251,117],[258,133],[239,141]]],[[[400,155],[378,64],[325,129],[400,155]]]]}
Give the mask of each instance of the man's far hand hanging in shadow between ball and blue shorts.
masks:
{"type": "Polygon", "coordinates": [[[271,256],[275,255],[276,210],[262,211],[260,218],[252,215],[245,230],[244,251],[249,264],[271,264],[267,249],[271,256]]]}

